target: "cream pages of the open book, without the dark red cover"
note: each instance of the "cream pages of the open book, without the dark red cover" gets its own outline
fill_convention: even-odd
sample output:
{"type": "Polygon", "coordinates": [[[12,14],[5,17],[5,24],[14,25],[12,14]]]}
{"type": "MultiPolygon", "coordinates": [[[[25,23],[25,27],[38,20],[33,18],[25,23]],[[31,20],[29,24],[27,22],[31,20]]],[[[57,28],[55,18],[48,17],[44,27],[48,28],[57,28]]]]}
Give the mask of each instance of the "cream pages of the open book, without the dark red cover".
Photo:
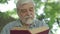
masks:
{"type": "Polygon", "coordinates": [[[38,28],[33,28],[33,29],[27,29],[25,27],[14,27],[12,30],[28,30],[32,34],[36,34],[36,33],[39,33],[39,32],[46,31],[48,29],[49,29],[48,27],[43,26],[43,27],[38,27],[38,28]]]}

